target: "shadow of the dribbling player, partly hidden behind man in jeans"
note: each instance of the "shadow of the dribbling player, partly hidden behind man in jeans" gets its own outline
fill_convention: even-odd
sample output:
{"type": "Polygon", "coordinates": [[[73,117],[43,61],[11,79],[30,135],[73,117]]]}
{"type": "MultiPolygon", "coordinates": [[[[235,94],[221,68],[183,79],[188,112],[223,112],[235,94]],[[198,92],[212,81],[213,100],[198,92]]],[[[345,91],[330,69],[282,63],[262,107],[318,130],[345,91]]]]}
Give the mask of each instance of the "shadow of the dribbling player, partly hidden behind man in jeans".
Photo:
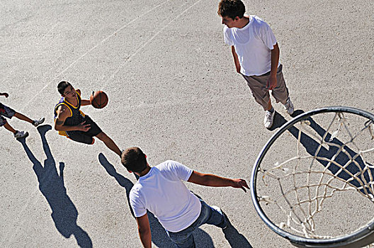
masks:
{"type": "MultiPolygon", "coordinates": [[[[132,208],[130,207],[130,190],[134,184],[132,184],[132,181],[125,178],[125,176],[122,176],[121,174],[118,174],[118,172],[113,167],[113,164],[108,162],[108,159],[100,153],[98,154],[98,161],[100,164],[106,169],[106,172],[113,176],[115,181],[118,182],[120,186],[123,186],[126,191],[126,196],[128,198],[128,205],[132,214],[132,217],[135,218],[134,213],[132,212],[132,208]]],[[[164,227],[160,224],[159,220],[154,217],[152,213],[147,211],[148,219],[149,219],[149,225],[151,227],[151,235],[152,235],[152,242],[160,248],[170,248],[175,247],[174,243],[171,242],[171,239],[166,234],[164,227]]],[[[208,235],[208,233],[204,232],[203,230],[196,230],[196,232],[193,233],[193,235],[196,237],[195,242],[197,247],[206,247],[206,248],[213,248],[213,242],[212,238],[208,235]]]]}

